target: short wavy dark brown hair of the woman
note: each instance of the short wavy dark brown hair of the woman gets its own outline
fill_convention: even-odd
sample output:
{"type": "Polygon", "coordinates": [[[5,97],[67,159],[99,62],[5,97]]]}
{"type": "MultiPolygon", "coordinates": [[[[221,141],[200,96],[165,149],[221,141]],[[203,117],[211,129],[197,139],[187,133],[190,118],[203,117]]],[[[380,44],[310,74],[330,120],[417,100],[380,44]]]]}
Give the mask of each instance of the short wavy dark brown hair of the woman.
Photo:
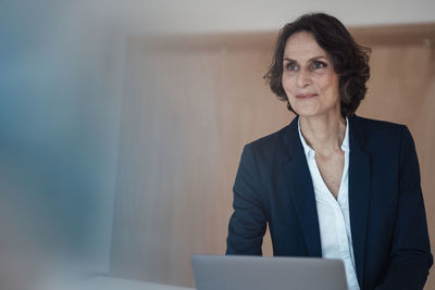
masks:
{"type": "Polygon", "coordinates": [[[318,45],[331,56],[334,71],[339,76],[341,114],[352,116],[365,97],[365,83],[370,78],[371,49],[359,46],[334,16],[312,13],[287,23],[279,31],[271,67],[263,78],[278,99],[287,102],[288,110],[295,112],[283,88],[282,75],[287,39],[299,31],[312,34],[318,45]]]}

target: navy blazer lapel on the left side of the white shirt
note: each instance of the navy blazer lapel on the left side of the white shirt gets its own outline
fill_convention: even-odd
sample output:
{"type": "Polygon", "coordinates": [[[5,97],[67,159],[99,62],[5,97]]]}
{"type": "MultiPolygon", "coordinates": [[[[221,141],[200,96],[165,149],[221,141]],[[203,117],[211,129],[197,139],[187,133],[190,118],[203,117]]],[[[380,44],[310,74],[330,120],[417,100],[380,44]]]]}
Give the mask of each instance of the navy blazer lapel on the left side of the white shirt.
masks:
{"type": "Polygon", "coordinates": [[[284,165],[287,175],[286,180],[307,243],[308,253],[310,256],[322,256],[314,189],[303,148],[299,139],[297,119],[296,117],[291,122],[285,136],[290,157],[289,162],[284,165]]]}

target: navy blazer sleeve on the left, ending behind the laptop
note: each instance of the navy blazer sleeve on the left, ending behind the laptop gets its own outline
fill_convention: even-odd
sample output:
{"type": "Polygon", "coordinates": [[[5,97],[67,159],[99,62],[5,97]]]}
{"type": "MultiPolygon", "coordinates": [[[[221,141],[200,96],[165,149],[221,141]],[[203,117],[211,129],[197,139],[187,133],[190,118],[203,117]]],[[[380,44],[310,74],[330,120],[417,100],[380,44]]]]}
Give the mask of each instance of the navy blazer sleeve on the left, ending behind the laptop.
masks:
{"type": "Polygon", "coordinates": [[[226,254],[261,255],[266,217],[251,144],[244,148],[233,191],[234,213],[228,225],[226,254]]]}

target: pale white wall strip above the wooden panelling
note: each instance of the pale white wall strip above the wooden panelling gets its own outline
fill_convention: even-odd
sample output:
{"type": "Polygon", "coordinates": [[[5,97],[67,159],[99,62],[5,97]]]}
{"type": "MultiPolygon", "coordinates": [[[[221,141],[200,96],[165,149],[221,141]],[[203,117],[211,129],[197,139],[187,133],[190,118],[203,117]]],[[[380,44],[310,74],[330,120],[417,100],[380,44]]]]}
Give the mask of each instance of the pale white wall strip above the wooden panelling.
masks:
{"type": "Polygon", "coordinates": [[[302,13],[319,11],[352,26],[435,21],[433,0],[130,0],[124,3],[119,16],[127,29],[136,31],[276,30],[302,13]]]}

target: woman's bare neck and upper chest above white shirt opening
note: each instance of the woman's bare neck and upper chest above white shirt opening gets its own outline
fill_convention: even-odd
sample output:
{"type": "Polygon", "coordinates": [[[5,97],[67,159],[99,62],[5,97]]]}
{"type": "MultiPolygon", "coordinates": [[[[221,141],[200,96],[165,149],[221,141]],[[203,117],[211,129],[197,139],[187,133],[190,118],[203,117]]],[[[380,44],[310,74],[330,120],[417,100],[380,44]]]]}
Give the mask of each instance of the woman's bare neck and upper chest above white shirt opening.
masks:
{"type": "Polygon", "coordinates": [[[346,135],[346,119],[339,115],[299,116],[300,130],[315,153],[328,156],[341,150],[346,135]]]}

